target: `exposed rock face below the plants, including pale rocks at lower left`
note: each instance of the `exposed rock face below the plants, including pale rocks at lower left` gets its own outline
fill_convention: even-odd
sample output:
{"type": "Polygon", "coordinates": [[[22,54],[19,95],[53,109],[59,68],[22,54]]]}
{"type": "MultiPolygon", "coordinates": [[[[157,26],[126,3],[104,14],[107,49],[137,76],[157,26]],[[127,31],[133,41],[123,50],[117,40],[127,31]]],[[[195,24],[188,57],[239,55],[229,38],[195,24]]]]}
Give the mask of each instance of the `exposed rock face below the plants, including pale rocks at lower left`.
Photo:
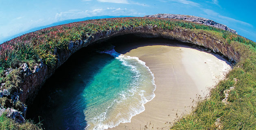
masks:
{"type": "MultiPolygon", "coordinates": [[[[164,30],[162,28],[158,28],[156,25],[148,25],[144,27],[139,26],[136,28],[133,26],[122,27],[119,29],[105,30],[85,35],[79,41],[70,42],[66,49],[56,50],[55,55],[57,58],[57,64],[55,67],[48,67],[43,62],[36,64],[34,67],[28,67],[26,63],[22,64],[18,68],[18,72],[20,73],[19,76],[22,79],[22,82],[20,83],[20,90],[12,93],[11,96],[9,96],[8,91],[1,91],[0,96],[11,97],[11,102],[20,101],[26,105],[31,104],[44,82],[69,58],[69,56],[87,45],[125,34],[137,34],[141,37],[163,37],[167,39],[175,39],[182,42],[204,46],[205,48],[213,50],[213,52],[223,54],[232,61],[239,61],[241,58],[241,54],[238,50],[235,50],[234,44],[225,44],[223,39],[218,39],[214,34],[207,32],[194,32],[193,30],[183,28],[164,30]]],[[[10,73],[10,71],[7,73],[10,73]]],[[[23,115],[24,117],[26,116],[25,106],[20,108],[19,111],[21,111],[18,112],[20,115],[23,115]]],[[[22,120],[20,115],[11,114],[11,117],[22,120]]]]}

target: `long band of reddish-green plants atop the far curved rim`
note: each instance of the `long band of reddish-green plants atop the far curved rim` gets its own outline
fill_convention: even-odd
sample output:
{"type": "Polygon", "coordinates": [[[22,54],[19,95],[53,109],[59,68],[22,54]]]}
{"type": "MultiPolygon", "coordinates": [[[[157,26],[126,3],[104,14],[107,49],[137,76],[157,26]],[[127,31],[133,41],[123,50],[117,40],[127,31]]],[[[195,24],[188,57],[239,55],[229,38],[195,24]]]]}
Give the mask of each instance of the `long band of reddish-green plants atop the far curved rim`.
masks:
{"type": "Polygon", "coordinates": [[[50,67],[56,65],[55,51],[65,49],[70,41],[78,41],[96,32],[120,30],[127,27],[157,26],[161,29],[173,30],[175,28],[211,30],[220,32],[228,43],[238,41],[256,47],[256,43],[231,32],[181,20],[158,18],[114,18],[88,20],[54,26],[27,33],[0,45],[0,67],[19,67],[25,61],[33,60],[35,63],[43,61],[50,67]]]}

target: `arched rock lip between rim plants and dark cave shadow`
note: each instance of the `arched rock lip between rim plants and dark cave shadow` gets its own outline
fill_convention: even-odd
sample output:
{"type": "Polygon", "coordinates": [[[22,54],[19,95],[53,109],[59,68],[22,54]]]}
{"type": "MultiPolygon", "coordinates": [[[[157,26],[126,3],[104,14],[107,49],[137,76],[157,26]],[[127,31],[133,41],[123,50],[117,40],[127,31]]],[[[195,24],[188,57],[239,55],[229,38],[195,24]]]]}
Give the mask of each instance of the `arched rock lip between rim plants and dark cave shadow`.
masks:
{"type": "MultiPolygon", "coordinates": [[[[71,42],[68,45],[67,50],[57,50],[56,55],[58,59],[59,67],[62,65],[73,53],[80,50],[87,45],[93,44],[95,42],[100,42],[111,37],[125,35],[125,34],[140,34],[141,37],[164,37],[167,39],[176,39],[182,42],[193,43],[196,45],[202,45],[205,48],[213,50],[213,52],[220,52],[224,56],[227,56],[232,61],[239,61],[240,54],[236,52],[232,45],[226,45],[223,41],[217,39],[217,37],[208,33],[196,33],[191,30],[162,30],[156,26],[139,27],[139,28],[121,28],[120,30],[108,30],[106,32],[97,32],[95,34],[87,36],[85,39],[80,41],[71,42]]],[[[41,63],[38,70],[29,70],[31,74],[26,74],[24,76],[24,82],[22,83],[23,93],[20,95],[20,100],[26,104],[33,102],[35,95],[41,89],[41,86],[47,78],[49,78],[56,68],[49,68],[45,64],[41,63]]],[[[28,68],[29,69],[29,68],[28,68]]],[[[24,71],[25,72],[25,71],[24,71]]]]}

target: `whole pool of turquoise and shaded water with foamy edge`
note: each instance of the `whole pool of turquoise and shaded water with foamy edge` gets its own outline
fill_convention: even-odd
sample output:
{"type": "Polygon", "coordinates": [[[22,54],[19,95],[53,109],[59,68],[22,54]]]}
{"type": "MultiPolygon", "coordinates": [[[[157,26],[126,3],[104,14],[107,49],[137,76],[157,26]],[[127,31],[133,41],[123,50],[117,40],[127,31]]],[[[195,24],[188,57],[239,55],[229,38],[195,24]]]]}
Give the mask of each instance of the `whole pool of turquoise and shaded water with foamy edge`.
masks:
{"type": "Polygon", "coordinates": [[[139,58],[115,50],[85,57],[67,61],[28,111],[40,116],[46,129],[112,128],[143,112],[143,104],[154,98],[154,76],[139,58]]]}

